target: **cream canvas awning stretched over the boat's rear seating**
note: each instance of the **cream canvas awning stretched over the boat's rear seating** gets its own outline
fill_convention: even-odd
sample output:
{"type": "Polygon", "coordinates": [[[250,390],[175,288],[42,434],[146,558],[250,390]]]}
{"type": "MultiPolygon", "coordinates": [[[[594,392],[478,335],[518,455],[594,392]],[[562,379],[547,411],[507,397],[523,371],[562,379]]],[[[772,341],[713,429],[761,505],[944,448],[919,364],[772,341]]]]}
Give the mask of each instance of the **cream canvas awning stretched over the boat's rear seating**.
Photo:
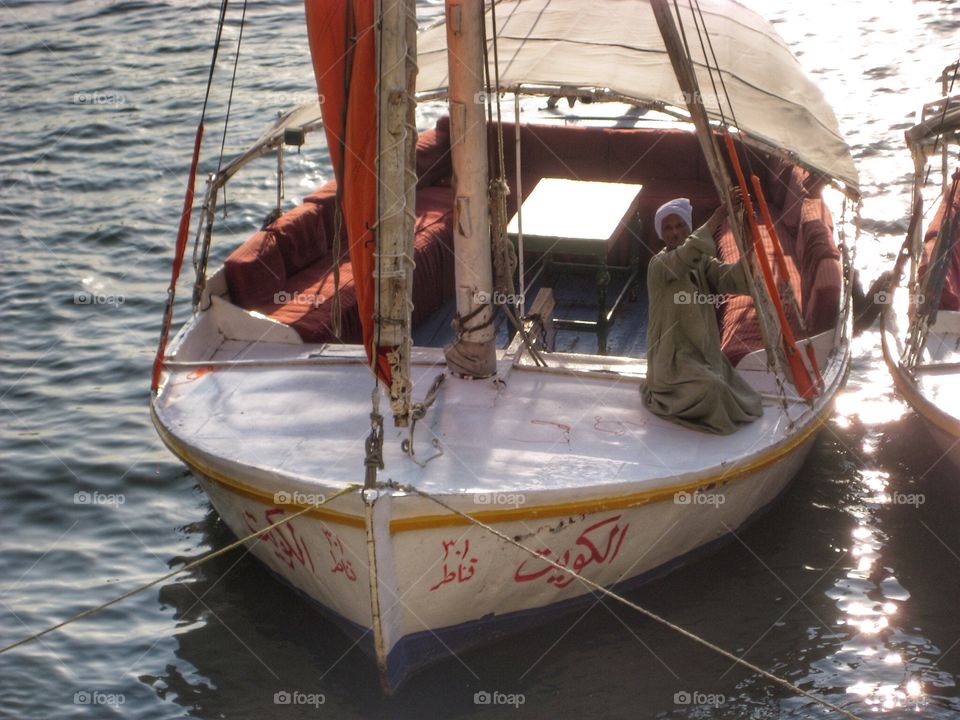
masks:
{"type": "MultiPolygon", "coordinates": [[[[681,5],[703,102],[710,117],[719,121],[720,105],[694,15],[688,2],[681,5]]],[[[773,26],[730,0],[699,0],[699,7],[736,115],[734,124],[753,141],[787,151],[808,168],[859,192],[857,170],[833,110],[773,26]]],[[[504,0],[496,4],[496,15],[501,88],[563,88],[560,95],[575,94],[570,90],[578,88],[603,89],[686,116],[649,0],[504,0]]],[[[492,28],[488,8],[488,38],[492,28]]],[[[428,28],[417,44],[418,95],[440,96],[448,85],[445,26],[428,28]]],[[[492,63],[492,40],[488,46],[492,63]]],[[[717,88],[723,92],[719,80],[717,88]]],[[[729,115],[726,103],[723,108],[729,115]]]]}

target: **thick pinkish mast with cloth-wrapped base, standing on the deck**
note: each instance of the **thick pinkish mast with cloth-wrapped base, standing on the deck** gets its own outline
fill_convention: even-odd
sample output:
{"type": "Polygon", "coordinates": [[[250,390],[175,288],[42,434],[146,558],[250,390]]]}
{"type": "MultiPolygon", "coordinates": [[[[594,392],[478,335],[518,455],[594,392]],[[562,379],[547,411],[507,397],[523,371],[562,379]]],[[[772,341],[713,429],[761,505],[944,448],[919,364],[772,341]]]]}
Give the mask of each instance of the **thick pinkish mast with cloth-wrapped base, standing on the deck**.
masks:
{"type": "Polygon", "coordinates": [[[447,366],[457,375],[489,377],[496,372],[497,358],[490,305],[493,263],[483,102],[483,3],[448,0],[446,10],[457,340],[444,354],[447,366]]]}

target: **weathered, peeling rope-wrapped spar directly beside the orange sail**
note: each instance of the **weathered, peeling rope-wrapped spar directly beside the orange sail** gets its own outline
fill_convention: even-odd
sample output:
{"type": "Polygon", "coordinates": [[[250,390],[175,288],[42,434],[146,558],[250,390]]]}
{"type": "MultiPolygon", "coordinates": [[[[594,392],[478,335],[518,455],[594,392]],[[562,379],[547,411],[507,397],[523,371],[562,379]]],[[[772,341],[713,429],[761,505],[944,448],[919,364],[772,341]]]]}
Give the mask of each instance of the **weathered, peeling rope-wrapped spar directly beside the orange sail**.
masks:
{"type": "Polygon", "coordinates": [[[417,21],[415,0],[380,0],[377,128],[375,343],[392,347],[390,401],[394,422],[410,414],[411,288],[416,203],[417,21]]]}

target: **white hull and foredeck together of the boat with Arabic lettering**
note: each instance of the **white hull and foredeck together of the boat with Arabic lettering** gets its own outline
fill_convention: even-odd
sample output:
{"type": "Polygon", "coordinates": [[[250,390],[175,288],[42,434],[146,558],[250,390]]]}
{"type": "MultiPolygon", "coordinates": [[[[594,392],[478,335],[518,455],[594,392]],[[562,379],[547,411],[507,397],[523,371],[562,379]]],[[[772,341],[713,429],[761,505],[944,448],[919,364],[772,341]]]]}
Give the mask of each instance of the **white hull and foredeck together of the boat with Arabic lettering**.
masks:
{"type": "MultiPolygon", "coordinates": [[[[827,392],[814,408],[793,403],[792,427],[780,406],[768,401],[763,419],[727,438],[653,418],[642,409],[636,383],[623,377],[516,368],[511,373],[506,367],[502,386],[493,390],[486,383],[448,379],[445,400],[460,412],[454,417],[438,410],[429,430],[417,431],[425,437],[416,443],[426,459],[436,452],[426,438],[436,437],[444,455],[420,467],[388,453],[380,477],[435,494],[593,582],[630,587],[709,550],[776,498],[829,416],[848,360],[841,352],[824,365],[827,392]],[[603,398],[597,405],[602,410],[584,412],[564,400],[567,392],[583,397],[587,391],[603,398]],[[473,411],[472,429],[463,428],[465,409],[473,411]],[[547,410],[552,420],[538,420],[547,410]]],[[[351,382],[336,379],[337,373],[352,372],[357,378],[366,373],[350,364],[322,371],[287,368],[274,373],[278,387],[260,392],[257,383],[271,375],[262,367],[174,370],[155,404],[155,423],[231,530],[246,536],[362,479],[358,439],[369,408],[354,400],[347,409],[337,394],[343,388],[356,396],[351,382]],[[205,389],[205,383],[215,387],[205,389]],[[281,390],[288,385],[310,397],[323,397],[325,389],[327,403],[319,415],[323,421],[337,418],[343,432],[334,437],[327,427],[325,435],[315,435],[304,428],[305,420],[299,426],[303,440],[297,441],[283,419],[258,437],[252,428],[236,425],[253,416],[269,427],[275,409],[256,403],[246,414],[210,407],[202,422],[190,425],[197,420],[190,409],[198,398],[216,392],[230,402],[231,383],[250,397],[274,402],[289,402],[281,390]],[[314,437],[325,439],[311,442],[314,437]],[[353,452],[344,458],[338,452],[348,440],[353,452]],[[271,443],[272,457],[286,459],[257,467],[255,460],[271,443]],[[288,443],[300,452],[278,455],[276,448],[288,443]],[[304,462],[316,469],[312,478],[305,476],[304,462]]],[[[421,382],[432,379],[430,373],[420,375],[421,382]]],[[[388,690],[429,663],[594,601],[588,587],[562,570],[425,497],[389,488],[366,497],[369,507],[359,492],[338,497],[250,546],[377,659],[388,690]]]]}

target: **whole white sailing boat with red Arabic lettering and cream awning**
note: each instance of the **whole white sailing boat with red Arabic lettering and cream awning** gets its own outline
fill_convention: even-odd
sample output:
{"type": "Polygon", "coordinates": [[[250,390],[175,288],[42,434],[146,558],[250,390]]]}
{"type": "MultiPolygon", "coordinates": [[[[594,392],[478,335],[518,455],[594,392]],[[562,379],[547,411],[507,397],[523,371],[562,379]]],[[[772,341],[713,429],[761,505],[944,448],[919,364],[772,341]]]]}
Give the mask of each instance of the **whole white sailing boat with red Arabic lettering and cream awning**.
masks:
{"type": "MultiPolygon", "coordinates": [[[[849,273],[820,190],[855,196],[857,177],[820,93],[736,3],[681,11],[725,38],[693,63],[663,2],[618,4],[611,22],[603,4],[451,0],[419,37],[412,3],[381,6],[308,0],[322,108],[288,113],[212,178],[193,314],[161,343],[152,412],[234,532],[302,513],[253,553],[391,689],[590,601],[569,571],[646,582],[773,502],[849,367],[849,273]],[[449,108],[419,137],[414,75],[419,101],[449,108]],[[723,100],[699,89],[717,79],[723,100]],[[699,224],[729,202],[724,103],[781,242],[753,231],[772,284],[751,252],[753,297],[723,303],[724,351],[764,411],[719,436],[650,414],[638,388],[653,212],[690,197],[699,224]],[[321,126],[336,181],[208,276],[218,190],[321,126]],[[810,372],[799,390],[791,360],[810,372]]],[[[747,237],[727,228],[721,257],[747,237]]]]}

